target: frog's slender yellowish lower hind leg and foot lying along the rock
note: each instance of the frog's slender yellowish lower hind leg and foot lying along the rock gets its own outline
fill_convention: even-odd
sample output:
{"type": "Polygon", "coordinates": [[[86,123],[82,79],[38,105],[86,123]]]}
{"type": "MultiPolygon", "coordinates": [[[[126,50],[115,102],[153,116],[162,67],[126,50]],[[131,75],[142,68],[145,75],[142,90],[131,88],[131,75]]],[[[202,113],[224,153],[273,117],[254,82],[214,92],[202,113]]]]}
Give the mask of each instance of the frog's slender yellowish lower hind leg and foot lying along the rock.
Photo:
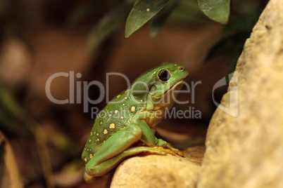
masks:
{"type": "MultiPolygon", "coordinates": [[[[124,152],[118,154],[117,156],[112,157],[111,159],[108,159],[107,161],[104,161],[100,163],[97,166],[94,166],[92,168],[92,175],[94,176],[102,176],[108,173],[110,170],[115,168],[115,166],[118,165],[123,159],[125,159],[128,156],[137,155],[143,152],[149,152],[151,154],[172,154],[172,151],[170,149],[158,149],[154,147],[131,147],[130,149],[125,150],[124,152]]],[[[87,173],[84,174],[84,179],[86,181],[91,181],[92,176],[87,175],[87,173]]]]}

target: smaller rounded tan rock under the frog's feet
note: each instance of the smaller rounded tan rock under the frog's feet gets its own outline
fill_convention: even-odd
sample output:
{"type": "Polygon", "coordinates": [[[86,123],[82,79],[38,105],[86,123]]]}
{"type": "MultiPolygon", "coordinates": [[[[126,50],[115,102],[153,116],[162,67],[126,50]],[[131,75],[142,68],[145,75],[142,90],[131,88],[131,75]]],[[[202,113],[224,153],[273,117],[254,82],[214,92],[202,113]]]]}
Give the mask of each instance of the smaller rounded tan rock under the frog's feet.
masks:
{"type": "Polygon", "coordinates": [[[199,168],[180,156],[135,156],[118,166],[111,187],[196,187],[199,168]]]}

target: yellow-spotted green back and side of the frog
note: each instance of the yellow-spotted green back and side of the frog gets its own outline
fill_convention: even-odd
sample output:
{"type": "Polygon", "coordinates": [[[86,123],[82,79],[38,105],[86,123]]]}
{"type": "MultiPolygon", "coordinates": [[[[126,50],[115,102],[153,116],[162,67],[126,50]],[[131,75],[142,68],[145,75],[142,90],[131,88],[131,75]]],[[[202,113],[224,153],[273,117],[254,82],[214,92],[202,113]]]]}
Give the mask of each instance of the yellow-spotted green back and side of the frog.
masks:
{"type": "Polygon", "coordinates": [[[84,152],[82,152],[84,163],[92,159],[108,137],[128,126],[132,117],[142,108],[142,102],[133,105],[136,103],[131,102],[129,94],[129,90],[122,91],[96,116],[84,152]]]}

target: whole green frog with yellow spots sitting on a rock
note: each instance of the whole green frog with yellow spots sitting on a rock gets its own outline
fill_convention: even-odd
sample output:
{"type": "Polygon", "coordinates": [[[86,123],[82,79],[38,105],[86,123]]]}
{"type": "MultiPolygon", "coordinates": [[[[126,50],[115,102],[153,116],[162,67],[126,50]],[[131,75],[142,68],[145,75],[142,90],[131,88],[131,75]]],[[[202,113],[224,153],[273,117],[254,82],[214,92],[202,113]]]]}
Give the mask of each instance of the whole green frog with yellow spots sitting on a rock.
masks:
{"type": "Polygon", "coordinates": [[[108,102],[96,116],[82,152],[84,180],[103,176],[123,159],[143,152],[183,156],[154,133],[188,75],[184,66],[164,62],[139,76],[130,88],[108,102]]]}

